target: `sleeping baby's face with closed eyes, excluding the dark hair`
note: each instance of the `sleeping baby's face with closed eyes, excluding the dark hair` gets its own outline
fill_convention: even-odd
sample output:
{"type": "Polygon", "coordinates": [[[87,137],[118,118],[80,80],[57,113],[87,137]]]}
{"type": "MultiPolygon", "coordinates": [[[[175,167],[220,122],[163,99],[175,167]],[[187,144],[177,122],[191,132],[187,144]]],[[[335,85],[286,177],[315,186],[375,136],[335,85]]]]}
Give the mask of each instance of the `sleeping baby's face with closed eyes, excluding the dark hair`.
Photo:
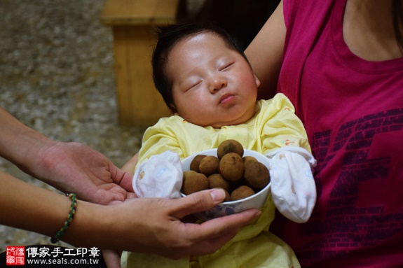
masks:
{"type": "Polygon", "coordinates": [[[242,55],[219,36],[185,38],[168,57],[175,107],[186,121],[222,127],[252,118],[260,82],[242,55]]]}

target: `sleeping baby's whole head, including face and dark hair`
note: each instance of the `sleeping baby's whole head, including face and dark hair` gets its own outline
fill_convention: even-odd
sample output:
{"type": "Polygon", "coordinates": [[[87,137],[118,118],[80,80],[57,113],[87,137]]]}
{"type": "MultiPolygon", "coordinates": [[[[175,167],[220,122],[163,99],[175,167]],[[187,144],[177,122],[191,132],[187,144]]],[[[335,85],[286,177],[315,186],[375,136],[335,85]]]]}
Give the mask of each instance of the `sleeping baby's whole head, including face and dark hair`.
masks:
{"type": "Polygon", "coordinates": [[[222,127],[254,115],[260,82],[226,31],[199,24],[160,28],[152,64],[157,90],[185,120],[222,127]]]}

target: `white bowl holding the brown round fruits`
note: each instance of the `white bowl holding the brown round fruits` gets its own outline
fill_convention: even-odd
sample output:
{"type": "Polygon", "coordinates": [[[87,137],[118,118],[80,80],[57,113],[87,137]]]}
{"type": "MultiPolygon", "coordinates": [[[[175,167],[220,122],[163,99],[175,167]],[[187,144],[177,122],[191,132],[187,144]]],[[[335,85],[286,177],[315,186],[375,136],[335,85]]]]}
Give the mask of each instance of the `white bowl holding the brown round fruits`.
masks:
{"type": "MultiPolygon", "coordinates": [[[[190,155],[189,157],[186,157],[184,160],[182,160],[182,167],[183,171],[189,171],[190,170],[190,164],[196,155],[214,155],[217,156],[217,148],[216,149],[209,149],[209,150],[203,150],[199,153],[195,153],[193,155],[190,155]]],[[[254,150],[247,150],[244,149],[243,156],[253,156],[257,159],[257,161],[261,162],[261,164],[264,164],[267,168],[269,168],[269,162],[268,158],[261,153],[257,153],[254,150]]],[[[266,199],[268,197],[268,194],[270,192],[270,185],[271,183],[268,183],[265,188],[260,190],[254,195],[251,195],[250,197],[246,197],[244,199],[236,200],[236,201],[230,201],[230,202],[222,202],[221,204],[218,204],[217,206],[214,206],[212,209],[208,211],[202,211],[199,213],[196,213],[195,216],[199,218],[200,220],[211,220],[213,218],[218,218],[222,216],[227,216],[231,215],[234,213],[239,213],[242,211],[245,211],[247,209],[260,209],[261,206],[264,205],[264,202],[266,202],[266,199]]],[[[185,197],[183,193],[181,193],[182,197],[185,197]]]]}

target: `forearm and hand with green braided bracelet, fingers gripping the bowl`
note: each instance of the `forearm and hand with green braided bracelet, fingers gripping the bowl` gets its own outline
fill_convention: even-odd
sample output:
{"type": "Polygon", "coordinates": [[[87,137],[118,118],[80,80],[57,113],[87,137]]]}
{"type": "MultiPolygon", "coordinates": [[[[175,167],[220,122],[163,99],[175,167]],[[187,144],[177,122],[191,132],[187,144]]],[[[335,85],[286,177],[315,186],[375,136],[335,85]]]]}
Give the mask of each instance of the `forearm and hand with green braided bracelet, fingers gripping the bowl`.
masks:
{"type": "MultiPolygon", "coordinates": [[[[71,200],[0,171],[0,224],[53,237],[69,214],[71,200]]],[[[156,253],[168,258],[213,253],[240,227],[259,216],[251,210],[201,225],[180,218],[222,202],[224,192],[207,190],[181,199],[128,199],[103,206],[78,200],[62,240],[83,247],[156,253]]]]}

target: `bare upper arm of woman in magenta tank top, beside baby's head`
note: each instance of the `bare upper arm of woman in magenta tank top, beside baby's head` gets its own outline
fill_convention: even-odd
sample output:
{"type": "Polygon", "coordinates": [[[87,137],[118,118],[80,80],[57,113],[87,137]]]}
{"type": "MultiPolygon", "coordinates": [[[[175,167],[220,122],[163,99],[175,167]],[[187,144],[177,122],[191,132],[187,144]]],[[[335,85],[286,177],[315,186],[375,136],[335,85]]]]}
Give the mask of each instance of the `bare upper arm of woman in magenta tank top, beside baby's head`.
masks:
{"type": "Polygon", "coordinates": [[[282,1],[245,50],[252,69],[259,78],[259,99],[271,99],[277,90],[285,42],[282,1]]]}

